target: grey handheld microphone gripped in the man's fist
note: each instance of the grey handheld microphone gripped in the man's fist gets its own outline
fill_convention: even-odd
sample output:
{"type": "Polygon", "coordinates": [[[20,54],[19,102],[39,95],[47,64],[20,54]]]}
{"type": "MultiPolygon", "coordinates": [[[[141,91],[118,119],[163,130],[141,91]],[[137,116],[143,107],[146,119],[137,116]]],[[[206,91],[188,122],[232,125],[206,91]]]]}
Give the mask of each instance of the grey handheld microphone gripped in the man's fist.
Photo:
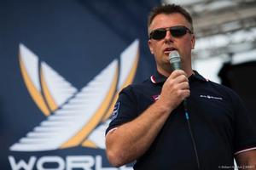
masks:
{"type": "MultiPolygon", "coordinates": [[[[180,55],[178,54],[177,50],[171,51],[169,53],[168,57],[169,57],[169,61],[170,61],[172,71],[182,70],[181,69],[181,64],[180,64],[181,59],[180,59],[180,55]]],[[[184,110],[186,112],[186,118],[189,119],[189,115],[187,114],[187,111],[188,111],[187,99],[183,100],[183,107],[184,107],[184,110]]]]}

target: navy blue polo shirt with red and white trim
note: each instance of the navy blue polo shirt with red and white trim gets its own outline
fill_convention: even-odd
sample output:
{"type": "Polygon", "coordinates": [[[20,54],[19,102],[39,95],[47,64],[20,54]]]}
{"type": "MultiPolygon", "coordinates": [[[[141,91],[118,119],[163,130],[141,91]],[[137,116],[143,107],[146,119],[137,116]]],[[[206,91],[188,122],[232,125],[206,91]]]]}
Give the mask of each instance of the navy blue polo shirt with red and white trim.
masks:
{"type": "MultiPolygon", "coordinates": [[[[156,72],[148,80],[124,88],[106,133],[135,119],[154,104],[165,81],[166,77],[156,72]]],[[[196,71],[189,77],[189,88],[188,111],[201,169],[233,167],[235,154],[256,149],[255,129],[235,92],[207,81],[196,71]]],[[[172,111],[148,151],[137,159],[134,169],[197,169],[183,105],[172,111]]]]}

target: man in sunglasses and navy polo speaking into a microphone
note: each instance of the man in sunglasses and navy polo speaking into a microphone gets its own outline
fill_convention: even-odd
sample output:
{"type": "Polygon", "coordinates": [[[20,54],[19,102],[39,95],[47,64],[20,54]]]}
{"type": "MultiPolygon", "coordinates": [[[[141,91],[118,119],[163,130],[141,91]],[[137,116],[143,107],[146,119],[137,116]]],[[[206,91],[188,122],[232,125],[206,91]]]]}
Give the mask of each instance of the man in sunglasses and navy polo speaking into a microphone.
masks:
{"type": "Polygon", "coordinates": [[[148,33],[157,71],[120,92],[106,132],[110,163],[136,161],[134,169],[143,170],[234,169],[235,157],[241,168],[256,169],[256,133],[241,99],[191,68],[189,13],[175,4],[156,7],[148,33]],[[171,69],[173,50],[182,70],[171,69]]]}

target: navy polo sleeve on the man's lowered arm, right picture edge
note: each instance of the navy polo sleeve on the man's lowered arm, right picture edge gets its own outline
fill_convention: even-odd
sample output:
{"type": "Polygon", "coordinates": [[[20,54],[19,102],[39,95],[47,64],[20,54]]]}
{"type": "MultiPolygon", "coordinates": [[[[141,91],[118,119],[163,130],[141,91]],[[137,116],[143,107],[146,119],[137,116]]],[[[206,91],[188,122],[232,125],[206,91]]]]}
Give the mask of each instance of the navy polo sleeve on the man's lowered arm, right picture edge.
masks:
{"type": "Polygon", "coordinates": [[[247,150],[256,149],[256,129],[253,125],[250,113],[247,111],[241,99],[236,95],[235,106],[235,155],[247,150]]]}

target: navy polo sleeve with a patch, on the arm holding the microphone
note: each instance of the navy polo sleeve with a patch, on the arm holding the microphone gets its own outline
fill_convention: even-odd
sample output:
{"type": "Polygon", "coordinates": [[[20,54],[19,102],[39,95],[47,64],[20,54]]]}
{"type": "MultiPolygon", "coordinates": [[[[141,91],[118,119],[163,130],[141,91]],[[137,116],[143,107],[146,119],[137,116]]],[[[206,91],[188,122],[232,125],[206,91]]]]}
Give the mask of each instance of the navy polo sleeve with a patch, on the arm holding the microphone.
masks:
{"type": "Polygon", "coordinates": [[[131,86],[124,88],[119,93],[119,98],[114,105],[111,122],[106,130],[107,134],[114,127],[118,127],[125,122],[130,122],[137,117],[137,98],[132,92],[131,86]]]}

